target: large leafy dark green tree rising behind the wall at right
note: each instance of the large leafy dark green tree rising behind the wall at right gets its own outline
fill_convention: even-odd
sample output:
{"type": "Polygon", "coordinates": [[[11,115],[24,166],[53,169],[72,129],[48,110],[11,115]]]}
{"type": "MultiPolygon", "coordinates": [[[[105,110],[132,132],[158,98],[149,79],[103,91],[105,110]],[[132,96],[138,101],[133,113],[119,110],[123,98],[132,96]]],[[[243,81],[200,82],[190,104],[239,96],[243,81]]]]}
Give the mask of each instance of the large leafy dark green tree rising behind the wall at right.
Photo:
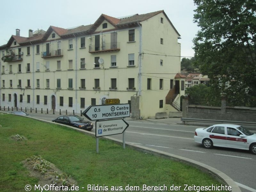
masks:
{"type": "Polygon", "coordinates": [[[238,105],[256,106],[256,2],[194,0],[193,39],[197,65],[214,93],[227,93],[238,105]]]}

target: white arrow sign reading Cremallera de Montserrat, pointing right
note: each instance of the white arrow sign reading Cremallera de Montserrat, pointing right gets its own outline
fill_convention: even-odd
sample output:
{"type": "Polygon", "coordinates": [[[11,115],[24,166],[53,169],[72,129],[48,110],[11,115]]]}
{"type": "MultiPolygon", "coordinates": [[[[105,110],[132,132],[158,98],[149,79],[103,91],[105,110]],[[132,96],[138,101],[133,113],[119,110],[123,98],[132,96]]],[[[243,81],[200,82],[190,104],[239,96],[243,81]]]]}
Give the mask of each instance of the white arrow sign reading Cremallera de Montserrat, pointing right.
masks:
{"type": "Polygon", "coordinates": [[[111,119],[96,121],[95,136],[102,137],[107,135],[121,134],[129,126],[124,119],[111,119]]]}

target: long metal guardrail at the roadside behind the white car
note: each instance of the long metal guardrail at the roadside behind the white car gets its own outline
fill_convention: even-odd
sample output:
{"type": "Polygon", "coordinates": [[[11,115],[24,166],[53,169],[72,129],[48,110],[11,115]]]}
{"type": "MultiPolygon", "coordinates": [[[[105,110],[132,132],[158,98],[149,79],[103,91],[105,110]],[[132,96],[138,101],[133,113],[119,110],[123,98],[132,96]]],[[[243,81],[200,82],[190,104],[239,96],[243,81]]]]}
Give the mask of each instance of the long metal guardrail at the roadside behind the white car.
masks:
{"type": "Polygon", "coordinates": [[[181,121],[186,124],[186,122],[199,122],[199,123],[225,123],[225,124],[238,124],[238,125],[245,125],[245,126],[255,126],[256,129],[256,122],[245,122],[245,121],[226,121],[226,120],[212,120],[212,119],[194,119],[194,118],[180,118],[181,121]]]}

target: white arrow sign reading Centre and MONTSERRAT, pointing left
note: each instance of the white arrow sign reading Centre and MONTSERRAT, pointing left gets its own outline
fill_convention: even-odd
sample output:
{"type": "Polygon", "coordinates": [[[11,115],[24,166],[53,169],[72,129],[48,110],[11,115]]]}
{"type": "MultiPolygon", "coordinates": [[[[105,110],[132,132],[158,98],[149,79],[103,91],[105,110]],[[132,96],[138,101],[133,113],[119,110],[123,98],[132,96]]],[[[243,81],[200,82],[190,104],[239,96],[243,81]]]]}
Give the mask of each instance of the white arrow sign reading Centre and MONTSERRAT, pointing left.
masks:
{"type": "Polygon", "coordinates": [[[130,104],[91,105],[82,114],[90,120],[129,117],[130,104]]]}

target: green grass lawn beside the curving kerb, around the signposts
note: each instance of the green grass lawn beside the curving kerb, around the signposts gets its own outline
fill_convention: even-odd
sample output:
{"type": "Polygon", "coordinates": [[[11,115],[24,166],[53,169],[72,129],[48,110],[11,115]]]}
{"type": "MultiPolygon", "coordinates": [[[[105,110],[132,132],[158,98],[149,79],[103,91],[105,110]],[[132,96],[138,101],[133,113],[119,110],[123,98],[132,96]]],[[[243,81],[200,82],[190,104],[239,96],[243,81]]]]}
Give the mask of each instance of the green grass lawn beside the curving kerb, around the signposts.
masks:
{"type": "MultiPolygon", "coordinates": [[[[25,185],[38,179],[29,176],[22,161],[41,155],[61,171],[71,175],[79,191],[87,185],[108,186],[174,186],[221,185],[195,167],[132,148],[122,148],[111,140],[96,139],[70,128],[34,119],[0,114],[0,191],[24,192],[25,185]],[[12,140],[19,134],[27,140],[12,140]]],[[[49,185],[50,185],[49,181],[49,185]]],[[[32,190],[34,191],[34,190],[32,190]]]]}

